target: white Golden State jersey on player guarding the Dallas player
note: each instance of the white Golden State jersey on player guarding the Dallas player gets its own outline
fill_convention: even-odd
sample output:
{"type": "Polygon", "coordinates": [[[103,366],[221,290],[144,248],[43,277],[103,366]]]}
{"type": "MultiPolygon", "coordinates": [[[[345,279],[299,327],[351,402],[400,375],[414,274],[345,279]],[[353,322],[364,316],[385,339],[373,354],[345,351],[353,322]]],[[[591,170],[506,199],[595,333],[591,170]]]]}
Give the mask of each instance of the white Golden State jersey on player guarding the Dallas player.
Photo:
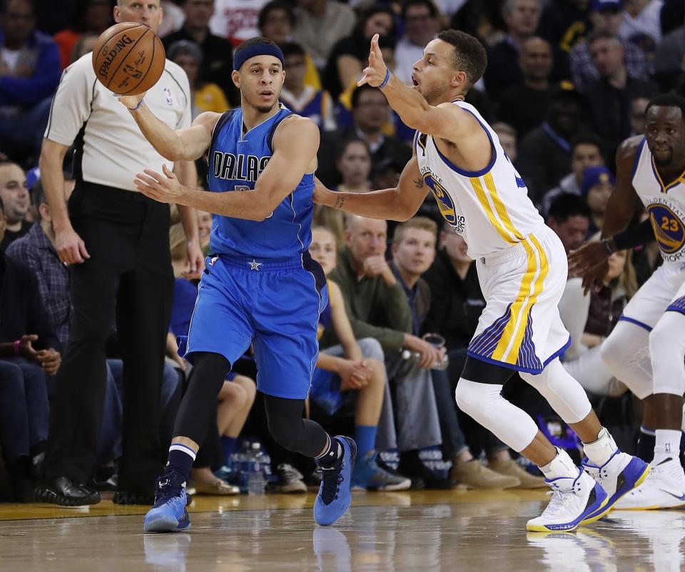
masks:
{"type": "Polygon", "coordinates": [[[430,135],[417,131],[416,157],[423,180],[430,188],[440,213],[478,259],[524,241],[544,225],[521,176],[499,144],[497,134],[474,106],[453,101],[472,114],[487,134],[492,160],[481,171],[465,171],[437,149],[430,135]]]}

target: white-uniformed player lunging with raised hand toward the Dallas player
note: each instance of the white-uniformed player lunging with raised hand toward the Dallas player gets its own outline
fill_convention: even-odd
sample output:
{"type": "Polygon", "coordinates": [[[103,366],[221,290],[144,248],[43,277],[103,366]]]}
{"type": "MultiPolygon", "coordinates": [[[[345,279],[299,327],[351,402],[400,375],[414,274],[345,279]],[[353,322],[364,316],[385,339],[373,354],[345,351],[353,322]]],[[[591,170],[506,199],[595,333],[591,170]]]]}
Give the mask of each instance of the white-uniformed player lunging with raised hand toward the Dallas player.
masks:
{"type": "Polygon", "coordinates": [[[390,74],[371,41],[360,84],[379,87],[408,126],[417,129],[412,159],[395,189],[333,193],[318,185],[315,201],[377,219],[405,221],[428,191],[442,216],[469,245],[487,304],[457,386],[457,404],[515,451],[537,464],[554,493],[531,531],[569,531],[597,520],[641,483],[649,466],[621,453],[602,428],[583,388],[559,363],[569,334],[557,303],[567,256],[527,196],[497,134],[464,102],[483,74],[480,41],[449,30],[414,64],[414,86],[390,74]],[[505,400],[514,371],[542,393],[582,438],[593,476],[547,441],[527,413],[505,400]],[[596,482],[597,481],[597,482],[596,482]]]}

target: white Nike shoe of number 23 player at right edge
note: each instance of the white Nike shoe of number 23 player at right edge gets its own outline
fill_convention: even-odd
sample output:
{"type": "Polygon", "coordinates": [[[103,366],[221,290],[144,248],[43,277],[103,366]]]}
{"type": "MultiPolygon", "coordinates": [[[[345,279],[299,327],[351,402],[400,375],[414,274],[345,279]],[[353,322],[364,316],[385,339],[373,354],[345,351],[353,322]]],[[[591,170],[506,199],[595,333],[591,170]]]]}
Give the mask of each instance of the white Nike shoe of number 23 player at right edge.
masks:
{"type": "Polygon", "coordinates": [[[682,506],[685,506],[685,472],[676,457],[652,465],[644,483],[621,498],[614,508],[644,511],[682,506]]]}

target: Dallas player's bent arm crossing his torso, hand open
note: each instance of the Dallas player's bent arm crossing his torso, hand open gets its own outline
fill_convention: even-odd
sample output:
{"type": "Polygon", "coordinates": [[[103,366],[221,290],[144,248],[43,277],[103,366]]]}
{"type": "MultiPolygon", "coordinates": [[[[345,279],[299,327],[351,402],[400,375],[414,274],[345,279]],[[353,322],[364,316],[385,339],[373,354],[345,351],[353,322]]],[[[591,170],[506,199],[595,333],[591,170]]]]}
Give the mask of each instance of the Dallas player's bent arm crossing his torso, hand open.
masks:
{"type": "Polygon", "coordinates": [[[300,184],[304,174],[314,170],[318,146],[316,124],[295,116],[278,126],[273,138],[273,155],[252,190],[213,193],[191,189],[179,184],[166,167],[163,175],[146,169],[145,174],[137,175],[134,183],[141,193],[156,201],[192,206],[221,216],[263,221],[300,184]]]}

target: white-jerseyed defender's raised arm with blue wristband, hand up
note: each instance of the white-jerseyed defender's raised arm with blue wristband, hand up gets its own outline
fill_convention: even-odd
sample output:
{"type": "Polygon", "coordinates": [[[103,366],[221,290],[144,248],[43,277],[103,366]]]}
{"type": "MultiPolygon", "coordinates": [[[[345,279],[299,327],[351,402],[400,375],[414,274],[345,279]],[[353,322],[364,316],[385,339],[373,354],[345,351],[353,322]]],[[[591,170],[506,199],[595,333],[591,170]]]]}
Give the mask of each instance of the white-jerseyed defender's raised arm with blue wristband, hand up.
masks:
{"type": "MultiPolygon", "coordinates": [[[[369,84],[380,87],[385,81],[387,66],[378,47],[378,34],[371,39],[369,66],[358,85],[369,84]]],[[[405,125],[421,133],[440,137],[458,143],[476,129],[480,129],[475,118],[459,106],[450,103],[432,106],[416,89],[390,74],[385,86],[380,87],[388,104],[397,111],[405,125]]]]}

